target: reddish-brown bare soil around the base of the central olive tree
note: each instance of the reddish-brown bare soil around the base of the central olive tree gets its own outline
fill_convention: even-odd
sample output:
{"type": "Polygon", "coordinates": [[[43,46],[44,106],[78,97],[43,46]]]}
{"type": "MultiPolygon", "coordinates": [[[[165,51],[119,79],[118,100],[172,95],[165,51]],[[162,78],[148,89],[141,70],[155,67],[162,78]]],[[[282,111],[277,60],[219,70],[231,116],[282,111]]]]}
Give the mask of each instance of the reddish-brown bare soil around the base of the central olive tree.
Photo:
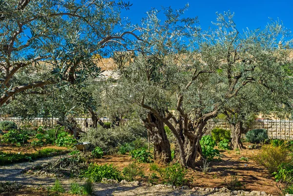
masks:
{"type": "MultiPolygon", "coordinates": [[[[245,144],[245,146],[248,145],[249,144],[245,144]]],[[[206,188],[224,187],[226,186],[224,182],[225,178],[226,182],[229,182],[231,174],[237,174],[237,176],[239,176],[239,181],[243,185],[241,189],[247,191],[265,191],[267,194],[278,195],[280,192],[273,177],[264,167],[256,164],[252,160],[254,154],[257,154],[259,151],[260,149],[245,149],[241,152],[221,150],[221,161],[212,161],[209,164],[211,170],[208,174],[204,174],[200,167],[197,167],[194,170],[188,170],[188,178],[194,179],[191,186],[206,188]],[[249,160],[240,160],[242,156],[249,158],[249,160]]],[[[97,164],[113,164],[122,171],[123,168],[129,163],[132,163],[133,160],[129,155],[106,155],[102,159],[95,159],[95,162],[97,164]]],[[[140,165],[142,166],[145,175],[153,173],[153,171],[149,170],[150,164],[142,163],[140,165]]]]}

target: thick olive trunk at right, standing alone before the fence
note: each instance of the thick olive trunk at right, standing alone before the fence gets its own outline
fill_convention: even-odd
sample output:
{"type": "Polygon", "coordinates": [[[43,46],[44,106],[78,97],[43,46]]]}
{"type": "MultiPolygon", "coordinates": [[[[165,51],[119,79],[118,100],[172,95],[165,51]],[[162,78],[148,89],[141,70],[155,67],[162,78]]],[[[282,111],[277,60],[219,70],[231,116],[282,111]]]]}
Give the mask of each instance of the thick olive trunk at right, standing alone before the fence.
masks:
{"type": "Polygon", "coordinates": [[[241,150],[245,148],[241,142],[241,134],[243,132],[244,128],[242,121],[238,121],[236,123],[231,124],[231,144],[233,146],[233,149],[241,150]]]}

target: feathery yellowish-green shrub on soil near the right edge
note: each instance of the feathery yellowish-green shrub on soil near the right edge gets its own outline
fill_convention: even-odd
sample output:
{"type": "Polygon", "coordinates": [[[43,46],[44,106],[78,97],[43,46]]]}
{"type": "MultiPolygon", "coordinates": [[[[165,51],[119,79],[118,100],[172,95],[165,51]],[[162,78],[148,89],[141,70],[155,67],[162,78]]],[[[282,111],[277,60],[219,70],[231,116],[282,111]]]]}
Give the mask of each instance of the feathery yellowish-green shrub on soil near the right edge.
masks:
{"type": "Polygon", "coordinates": [[[289,162],[289,151],[282,146],[264,145],[262,151],[254,157],[254,160],[267,168],[272,174],[278,171],[278,167],[282,163],[289,162]]]}

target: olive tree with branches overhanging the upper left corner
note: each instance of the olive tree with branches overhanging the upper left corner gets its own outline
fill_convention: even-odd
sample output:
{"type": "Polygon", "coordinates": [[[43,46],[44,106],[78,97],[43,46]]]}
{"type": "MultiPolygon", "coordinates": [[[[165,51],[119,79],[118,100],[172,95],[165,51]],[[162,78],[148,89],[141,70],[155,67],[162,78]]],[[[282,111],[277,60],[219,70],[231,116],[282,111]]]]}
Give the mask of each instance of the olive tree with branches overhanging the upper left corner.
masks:
{"type": "MultiPolygon", "coordinates": [[[[0,106],[21,92],[73,85],[98,75],[97,61],[131,42],[115,0],[0,0],[0,106]],[[119,26],[120,28],[117,28],[119,26]]],[[[129,48],[127,48],[129,49],[129,48]]]]}

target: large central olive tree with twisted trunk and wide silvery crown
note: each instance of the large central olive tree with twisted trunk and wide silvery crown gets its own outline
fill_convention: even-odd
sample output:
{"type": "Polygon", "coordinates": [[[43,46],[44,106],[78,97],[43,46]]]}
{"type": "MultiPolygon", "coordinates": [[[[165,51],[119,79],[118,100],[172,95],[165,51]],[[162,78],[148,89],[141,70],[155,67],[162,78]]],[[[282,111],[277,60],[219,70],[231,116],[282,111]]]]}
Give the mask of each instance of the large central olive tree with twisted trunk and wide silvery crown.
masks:
{"type": "MultiPolygon", "coordinates": [[[[240,33],[230,12],[217,15],[216,28],[201,31],[193,26],[194,21],[179,20],[182,15],[178,13],[183,11],[169,9],[165,13],[167,21],[155,25],[161,26],[160,30],[142,35],[148,37],[149,44],[122,69],[122,83],[126,92],[131,92],[129,101],[149,112],[149,122],[156,130],[162,127],[156,122],[163,122],[172,131],[175,159],[194,167],[209,119],[222,112],[228,102],[238,102],[235,97],[246,86],[281,86],[289,51],[280,50],[278,43],[286,31],[271,22],[265,29],[240,33]]],[[[144,22],[151,27],[161,21],[153,12],[144,22]]],[[[290,78],[286,80],[291,83],[290,78]]],[[[168,152],[165,133],[154,134],[160,138],[158,149],[168,152]]],[[[166,159],[164,156],[167,153],[159,158],[166,159]]]]}

